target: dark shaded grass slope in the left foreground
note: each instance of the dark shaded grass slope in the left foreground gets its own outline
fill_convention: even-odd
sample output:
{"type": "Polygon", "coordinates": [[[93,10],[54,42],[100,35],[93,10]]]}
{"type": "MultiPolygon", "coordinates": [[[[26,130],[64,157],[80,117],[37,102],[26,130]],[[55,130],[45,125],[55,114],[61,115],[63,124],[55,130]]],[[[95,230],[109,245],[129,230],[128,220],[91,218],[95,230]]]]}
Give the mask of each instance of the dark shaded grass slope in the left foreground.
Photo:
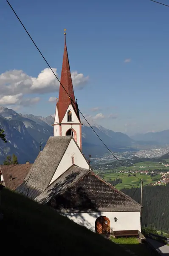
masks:
{"type": "Polygon", "coordinates": [[[49,207],[3,189],[1,253],[9,255],[129,255],[118,244],[59,215],[49,207]]]}

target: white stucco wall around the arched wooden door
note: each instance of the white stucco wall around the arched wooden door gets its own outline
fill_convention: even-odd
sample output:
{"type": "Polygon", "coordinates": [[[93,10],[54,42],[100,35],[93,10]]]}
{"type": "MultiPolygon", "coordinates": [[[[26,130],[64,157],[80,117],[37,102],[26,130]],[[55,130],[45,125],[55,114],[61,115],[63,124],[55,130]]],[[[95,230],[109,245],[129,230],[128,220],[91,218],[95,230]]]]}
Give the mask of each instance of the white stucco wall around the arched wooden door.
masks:
{"type": "Polygon", "coordinates": [[[72,221],[87,227],[95,232],[95,222],[99,216],[106,216],[110,219],[112,230],[139,230],[141,231],[140,212],[85,212],[85,213],[64,213],[64,216],[72,221]],[[117,222],[114,218],[117,218],[117,222]]]}

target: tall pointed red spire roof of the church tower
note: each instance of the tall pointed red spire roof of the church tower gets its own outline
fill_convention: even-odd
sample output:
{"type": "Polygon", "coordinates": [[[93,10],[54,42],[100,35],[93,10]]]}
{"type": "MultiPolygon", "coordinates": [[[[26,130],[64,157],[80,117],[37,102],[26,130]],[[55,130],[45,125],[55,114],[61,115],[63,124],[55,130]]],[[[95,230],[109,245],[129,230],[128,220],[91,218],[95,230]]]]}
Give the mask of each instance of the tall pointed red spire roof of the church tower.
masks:
{"type": "Polygon", "coordinates": [[[71,103],[71,99],[72,99],[73,108],[74,108],[74,110],[75,110],[75,112],[76,112],[76,114],[79,118],[78,106],[75,103],[75,96],[74,96],[74,91],[73,91],[72,78],[71,78],[71,74],[70,74],[68,50],[67,50],[67,46],[66,46],[66,33],[65,33],[65,48],[64,48],[64,53],[63,53],[62,73],[61,73],[60,82],[68,93],[67,94],[65,92],[64,88],[60,84],[59,100],[58,100],[58,103],[57,103],[57,108],[58,108],[58,113],[59,113],[59,122],[61,123],[64,116],[65,116],[65,113],[68,109],[68,106],[71,103]]]}

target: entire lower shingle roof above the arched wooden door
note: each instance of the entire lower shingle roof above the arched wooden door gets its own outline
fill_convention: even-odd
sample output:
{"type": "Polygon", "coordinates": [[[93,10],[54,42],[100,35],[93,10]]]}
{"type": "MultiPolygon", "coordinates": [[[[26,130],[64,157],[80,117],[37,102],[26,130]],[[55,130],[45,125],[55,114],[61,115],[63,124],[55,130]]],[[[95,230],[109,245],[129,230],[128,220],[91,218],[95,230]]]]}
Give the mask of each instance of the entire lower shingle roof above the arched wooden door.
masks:
{"type": "Polygon", "coordinates": [[[59,210],[59,212],[124,212],[141,210],[140,204],[101,179],[93,171],[74,165],[35,198],[36,201],[42,204],[48,204],[54,199],[56,199],[57,204],[55,209],[59,210]],[[83,192],[86,195],[85,201],[82,199],[83,192]],[[93,200],[95,201],[94,207],[93,203],[90,206],[89,204],[87,205],[87,202],[93,202],[93,200]]]}

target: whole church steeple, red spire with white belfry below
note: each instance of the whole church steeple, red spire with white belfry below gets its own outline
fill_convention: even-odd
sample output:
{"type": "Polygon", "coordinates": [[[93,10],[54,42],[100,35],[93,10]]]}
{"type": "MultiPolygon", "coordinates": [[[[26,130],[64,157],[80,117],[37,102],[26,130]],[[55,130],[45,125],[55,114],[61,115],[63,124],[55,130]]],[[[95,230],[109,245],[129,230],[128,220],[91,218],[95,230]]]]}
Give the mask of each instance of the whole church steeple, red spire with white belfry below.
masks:
{"type": "Polygon", "coordinates": [[[82,124],[80,122],[77,100],[75,102],[73,91],[68,50],[66,45],[66,32],[64,34],[65,47],[63,53],[59,99],[56,103],[55,111],[54,136],[73,136],[79,145],[79,148],[82,149],[82,124]]]}

